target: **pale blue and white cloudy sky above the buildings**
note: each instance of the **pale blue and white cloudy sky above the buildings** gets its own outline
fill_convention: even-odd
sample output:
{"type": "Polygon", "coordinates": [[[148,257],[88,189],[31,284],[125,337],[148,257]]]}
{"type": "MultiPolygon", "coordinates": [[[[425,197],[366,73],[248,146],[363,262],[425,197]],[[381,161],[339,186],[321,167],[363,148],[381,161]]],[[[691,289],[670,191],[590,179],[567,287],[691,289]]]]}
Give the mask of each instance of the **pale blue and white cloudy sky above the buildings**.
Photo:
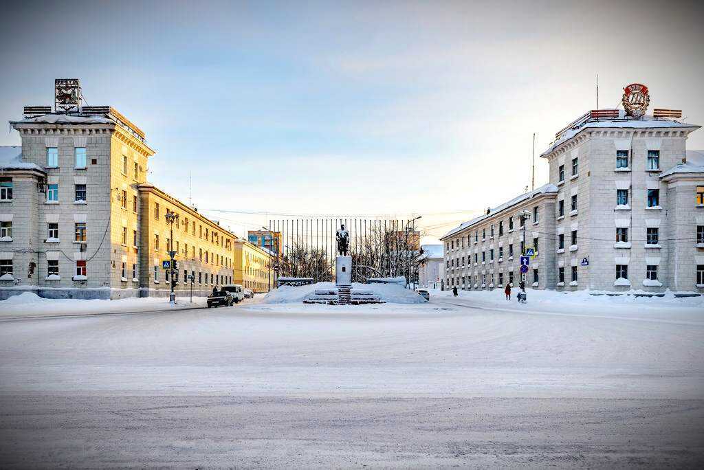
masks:
{"type": "MultiPolygon", "coordinates": [[[[0,119],[77,77],[149,180],[237,234],[272,214],[422,215],[431,243],[548,182],[539,154],[646,84],[704,124],[704,6],[655,1],[34,2],[0,17],[0,119]],[[37,8],[41,14],[37,13],[37,8]],[[190,184],[189,190],[189,181],[190,184]]],[[[0,145],[18,145],[17,132],[0,145]]],[[[704,130],[688,148],[704,148],[704,130]]]]}

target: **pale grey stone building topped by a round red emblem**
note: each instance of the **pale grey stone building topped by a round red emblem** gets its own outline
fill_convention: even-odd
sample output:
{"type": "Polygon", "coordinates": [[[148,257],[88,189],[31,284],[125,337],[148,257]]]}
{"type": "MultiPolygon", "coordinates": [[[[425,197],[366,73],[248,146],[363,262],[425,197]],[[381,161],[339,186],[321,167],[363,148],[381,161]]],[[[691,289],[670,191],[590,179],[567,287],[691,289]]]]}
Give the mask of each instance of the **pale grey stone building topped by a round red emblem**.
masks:
{"type": "MultiPolygon", "coordinates": [[[[704,161],[700,153],[686,151],[687,136],[699,126],[679,120],[678,111],[645,115],[646,87],[634,84],[625,91],[624,110],[594,110],[558,132],[541,155],[550,165],[546,186],[442,238],[448,286],[505,283],[502,263],[477,265],[474,250],[503,245],[505,260],[506,244],[517,240],[505,227],[510,217],[515,221],[528,210],[526,246],[537,253],[527,273],[529,286],[704,293],[704,161]],[[634,89],[640,110],[629,102],[634,89]],[[479,244],[477,232],[496,224],[504,234],[479,244]]],[[[509,255],[522,251],[512,247],[509,255]]],[[[514,256],[508,281],[517,268],[514,256]]]]}

